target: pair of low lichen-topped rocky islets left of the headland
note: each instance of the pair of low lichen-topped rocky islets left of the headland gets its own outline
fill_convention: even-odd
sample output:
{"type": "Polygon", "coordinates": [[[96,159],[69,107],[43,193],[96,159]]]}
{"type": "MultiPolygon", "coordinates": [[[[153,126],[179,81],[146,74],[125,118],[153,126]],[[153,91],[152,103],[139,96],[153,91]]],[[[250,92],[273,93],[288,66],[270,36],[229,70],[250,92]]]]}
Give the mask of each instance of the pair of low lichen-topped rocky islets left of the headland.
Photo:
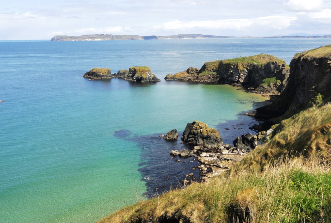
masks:
{"type": "Polygon", "coordinates": [[[111,69],[108,68],[93,68],[86,72],[83,77],[89,78],[89,80],[118,77],[134,82],[161,81],[152,73],[151,68],[146,66],[130,67],[129,70],[119,70],[114,74],[112,74],[111,69]]]}

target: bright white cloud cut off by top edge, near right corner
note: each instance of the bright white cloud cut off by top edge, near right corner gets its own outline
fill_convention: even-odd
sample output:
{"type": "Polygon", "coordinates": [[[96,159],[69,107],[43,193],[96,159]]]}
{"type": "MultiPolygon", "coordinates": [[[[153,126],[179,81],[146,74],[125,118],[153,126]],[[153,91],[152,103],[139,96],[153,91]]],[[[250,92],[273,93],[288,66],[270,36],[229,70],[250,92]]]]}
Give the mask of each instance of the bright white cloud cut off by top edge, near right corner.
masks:
{"type": "Polygon", "coordinates": [[[323,3],[323,0],[289,0],[285,5],[290,11],[315,12],[322,9],[323,3]]]}

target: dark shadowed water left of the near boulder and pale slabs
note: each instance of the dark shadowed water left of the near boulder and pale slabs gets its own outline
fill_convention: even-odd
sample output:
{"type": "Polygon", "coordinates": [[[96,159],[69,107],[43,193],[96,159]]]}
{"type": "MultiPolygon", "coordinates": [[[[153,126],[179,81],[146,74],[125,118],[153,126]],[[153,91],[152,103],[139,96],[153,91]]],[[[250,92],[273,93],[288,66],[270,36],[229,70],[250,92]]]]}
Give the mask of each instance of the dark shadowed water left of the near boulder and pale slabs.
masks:
{"type": "Polygon", "coordinates": [[[170,188],[182,187],[182,180],[185,178],[190,180],[189,177],[186,177],[188,173],[193,173],[195,181],[199,179],[198,168],[192,170],[193,166],[200,165],[198,161],[194,160],[194,157],[170,158],[171,150],[190,149],[186,144],[181,143],[181,134],[177,140],[167,141],[163,137],[159,137],[159,133],[127,138],[128,133],[130,133],[129,130],[119,130],[114,132],[114,136],[132,141],[141,148],[142,162],[138,164],[140,166],[138,170],[142,174],[141,180],[146,182],[147,192],[144,196],[147,198],[169,191],[170,188]]]}

